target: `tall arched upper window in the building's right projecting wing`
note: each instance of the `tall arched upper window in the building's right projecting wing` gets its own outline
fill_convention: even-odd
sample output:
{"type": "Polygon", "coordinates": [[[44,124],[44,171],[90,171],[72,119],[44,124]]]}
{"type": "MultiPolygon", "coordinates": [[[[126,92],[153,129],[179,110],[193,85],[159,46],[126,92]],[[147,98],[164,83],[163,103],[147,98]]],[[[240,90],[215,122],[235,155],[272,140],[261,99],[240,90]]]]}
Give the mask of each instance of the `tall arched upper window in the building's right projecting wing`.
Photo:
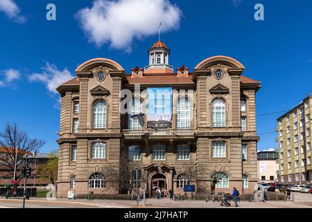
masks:
{"type": "Polygon", "coordinates": [[[212,126],[225,127],[225,102],[222,99],[212,102],[212,126]]]}

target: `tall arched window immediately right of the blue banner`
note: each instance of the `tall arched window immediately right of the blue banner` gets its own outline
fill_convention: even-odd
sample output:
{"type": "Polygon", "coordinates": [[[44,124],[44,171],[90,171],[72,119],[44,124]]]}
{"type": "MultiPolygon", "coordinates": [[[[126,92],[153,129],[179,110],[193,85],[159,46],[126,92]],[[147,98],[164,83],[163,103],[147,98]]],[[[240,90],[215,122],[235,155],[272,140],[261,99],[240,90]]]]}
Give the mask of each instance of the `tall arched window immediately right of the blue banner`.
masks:
{"type": "Polygon", "coordinates": [[[189,99],[180,98],[177,101],[177,117],[176,117],[177,129],[189,129],[191,128],[191,104],[189,99]]]}

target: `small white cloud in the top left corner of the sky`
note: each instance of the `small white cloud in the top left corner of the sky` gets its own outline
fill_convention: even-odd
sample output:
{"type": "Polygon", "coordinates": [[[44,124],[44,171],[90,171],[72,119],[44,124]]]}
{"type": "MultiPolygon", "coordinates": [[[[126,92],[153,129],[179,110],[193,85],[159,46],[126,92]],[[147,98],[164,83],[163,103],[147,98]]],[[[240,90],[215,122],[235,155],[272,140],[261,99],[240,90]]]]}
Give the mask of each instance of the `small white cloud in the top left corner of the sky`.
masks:
{"type": "Polygon", "coordinates": [[[0,11],[5,12],[6,15],[15,22],[26,22],[26,17],[21,15],[19,6],[17,6],[13,0],[0,0],[0,11]]]}

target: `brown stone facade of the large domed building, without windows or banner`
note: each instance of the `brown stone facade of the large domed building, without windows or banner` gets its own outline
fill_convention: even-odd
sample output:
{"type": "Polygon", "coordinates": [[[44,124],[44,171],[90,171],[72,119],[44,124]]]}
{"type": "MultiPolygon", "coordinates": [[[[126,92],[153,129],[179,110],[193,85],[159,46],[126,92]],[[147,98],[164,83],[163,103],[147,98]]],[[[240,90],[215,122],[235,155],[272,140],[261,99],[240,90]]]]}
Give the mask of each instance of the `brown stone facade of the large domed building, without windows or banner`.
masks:
{"type": "MultiPolygon", "coordinates": [[[[162,59],[168,58],[170,51],[162,44],[154,44],[151,52],[157,48],[166,52],[162,59]],[[158,47],[158,48],[157,48],[158,47]],[[168,53],[168,54],[167,54],[168,53]]],[[[150,57],[150,62],[153,62],[150,57]]],[[[162,62],[161,62],[162,63],[162,62]]],[[[120,185],[110,181],[108,174],[114,172],[121,175],[125,166],[123,156],[128,155],[128,148],[137,145],[141,148],[140,158],[129,161],[142,169],[141,189],[153,194],[153,185],[173,189],[175,194],[182,193],[183,188],[177,183],[178,176],[189,176],[189,184],[196,185],[196,191],[210,189],[211,176],[223,172],[227,176],[227,185],[217,187],[217,191],[229,191],[232,187],[242,190],[243,174],[248,176],[245,191],[253,191],[257,185],[257,142],[255,95],[260,82],[241,76],[245,67],[240,62],[226,56],[215,56],[200,62],[193,73],[187,67],[171,71],[168,60],[164,64],[148,66],[148,71],[136,67],[131,74],[125,74],[121,65],[105,58],[89,60],[76,69],[77,77],[58,87],[62,96],[60,115],[58,196],[67,197],[67,191],[76,194],[123,193],[120,185]],[[170,69],[168,69],[168,67],[170,69]],[[160,71],[159,71],[160,70],[160,71]],[[216,78],[216,70],[222,76],[216,78]],[[101,71],[104,80],[96,78],[101,71]],[[178,129],[176,123],[175,103],[173,98],[172,127],[155,131],[146,126],[139,130],[131,130],[128,126],[128,114],[121,114],[121,89],[130,89],[135,94],[139,85],[139,99],[143,101],[143,112],[146,112],[147,87],[172,87],[177,92],[183,89],[190,91],[191,124],[187,129],[178,129]],[[225,126],[214,127],[212,124],[212,103],[216,99],[225,101],[225,126]],[[94,103],[105,101],[105,128],[94,128],[94,103]],[[241,110],[241,101],[245,101],[241,110]],[[74,104],[79,103],[78,114],[73,112],[74,104]],[[241,118],[245,117],[244,130],[241,118]],[[78,119],[78,131],[74,133],[74,119],[78,119]],[[105,157],[92,159],[92,144],[105,143],[105,157]],[[213,157],[212,144],[225,142],[225,156],[213,157]],[[177,159],[177,146],[189,146],[189,160],[177,159]],[[242,161],[242,144],[247,144],[247,158],[242,161]],[[164,160],[153,160],[153,146],[166,147],[164,160]],[[77,147],[76,158],[71,161],[71,148],[77,147]],[[243,164],[243,165],[242,165],[243,164]],[[110,172],[105,172],[109,170],[110,172]],[[242,174],[243,171],[243,174],[242,174]],[[103,188],[89,188],[88,180],[92,173],[105,175],[106,185],[103,188]],[[71,178],[75,178],[74,189],[71,189],[71,178]],[[110,186],[110,184],[112,186],[110,186]]],[[[134,95],[135,96],[135,95],[134,95]]],[[[174,97],[174,96],[173,96],[174,97]]],[[[226,179],[225,179],[226,180],[226,179]]]]}

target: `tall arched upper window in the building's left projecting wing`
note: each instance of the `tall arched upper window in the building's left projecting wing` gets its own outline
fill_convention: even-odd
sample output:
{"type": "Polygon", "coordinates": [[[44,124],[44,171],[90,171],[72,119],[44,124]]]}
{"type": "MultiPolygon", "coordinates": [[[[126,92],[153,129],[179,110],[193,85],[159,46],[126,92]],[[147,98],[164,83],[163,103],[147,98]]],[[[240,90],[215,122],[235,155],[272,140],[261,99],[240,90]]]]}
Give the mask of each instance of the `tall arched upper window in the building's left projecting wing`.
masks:
{"type": "Polygon", "coordinates": [[[97,101],[93,106],[93,128],[106,128],[106,103],[97,101]]]}

